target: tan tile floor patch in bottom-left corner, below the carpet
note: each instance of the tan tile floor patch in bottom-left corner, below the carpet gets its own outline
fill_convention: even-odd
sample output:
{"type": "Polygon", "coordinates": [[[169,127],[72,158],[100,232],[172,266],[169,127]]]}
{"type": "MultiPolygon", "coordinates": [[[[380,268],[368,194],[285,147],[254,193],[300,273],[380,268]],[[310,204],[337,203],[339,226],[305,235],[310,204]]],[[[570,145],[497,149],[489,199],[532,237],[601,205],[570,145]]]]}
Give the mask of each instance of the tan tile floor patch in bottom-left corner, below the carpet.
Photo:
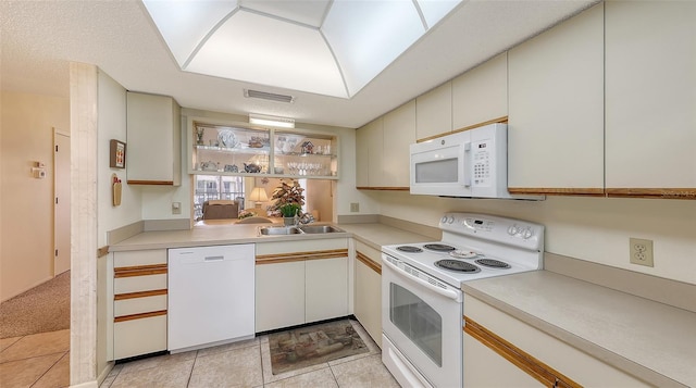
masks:
{"type": "Polygon", "coordinates": [[[70,386],[70,329],[0,339],[0,387],[70,386]]]}

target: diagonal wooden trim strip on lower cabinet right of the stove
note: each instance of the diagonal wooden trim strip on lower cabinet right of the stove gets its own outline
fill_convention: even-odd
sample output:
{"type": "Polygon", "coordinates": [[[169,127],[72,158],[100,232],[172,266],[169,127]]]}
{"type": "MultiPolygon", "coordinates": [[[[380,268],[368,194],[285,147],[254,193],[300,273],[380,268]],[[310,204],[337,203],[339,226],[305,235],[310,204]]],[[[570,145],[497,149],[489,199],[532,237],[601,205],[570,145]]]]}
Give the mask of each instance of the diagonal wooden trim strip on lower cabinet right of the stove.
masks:
{"type": "Polygon", "coordinates": [[[493,331],[478,325],[464,315],[464,333],[478,340],[481,343],[500,354],[506,360],[517,365],[520,370],[534,377],[547,387],[582,388],[582,385],[568,378],[560,372],[546,365],[522,349],[506,341],[493,331]]]}

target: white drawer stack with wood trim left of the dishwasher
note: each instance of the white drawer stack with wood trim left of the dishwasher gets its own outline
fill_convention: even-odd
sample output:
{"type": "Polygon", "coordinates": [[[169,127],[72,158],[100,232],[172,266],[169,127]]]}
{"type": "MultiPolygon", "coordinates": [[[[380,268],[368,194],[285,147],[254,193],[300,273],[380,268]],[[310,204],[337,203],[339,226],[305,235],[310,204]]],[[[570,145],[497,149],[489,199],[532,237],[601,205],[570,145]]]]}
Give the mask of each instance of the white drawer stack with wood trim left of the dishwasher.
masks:
{"type": "Polygon", "coordinates": [[[166,350],[166,250],[113,253],[113,358],[166,350]]]}

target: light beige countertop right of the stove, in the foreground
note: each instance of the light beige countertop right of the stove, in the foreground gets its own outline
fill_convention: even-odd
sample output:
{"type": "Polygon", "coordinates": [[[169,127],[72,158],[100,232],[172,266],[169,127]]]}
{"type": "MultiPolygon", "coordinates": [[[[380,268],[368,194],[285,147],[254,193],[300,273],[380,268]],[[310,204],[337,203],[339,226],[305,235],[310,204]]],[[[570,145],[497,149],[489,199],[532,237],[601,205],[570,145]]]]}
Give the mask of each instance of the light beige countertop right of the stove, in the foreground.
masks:
{"type": "Polygon", "coordinates": [[[548,271],[461,288],[656,386],[696,387],[696,313],[548,271]]]}

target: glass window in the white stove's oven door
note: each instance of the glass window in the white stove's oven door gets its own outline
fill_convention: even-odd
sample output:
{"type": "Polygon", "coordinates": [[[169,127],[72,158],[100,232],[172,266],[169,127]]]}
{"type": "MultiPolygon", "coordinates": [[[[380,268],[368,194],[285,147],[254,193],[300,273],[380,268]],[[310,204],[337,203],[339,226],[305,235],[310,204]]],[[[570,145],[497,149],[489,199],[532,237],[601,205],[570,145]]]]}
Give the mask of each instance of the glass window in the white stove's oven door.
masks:
{"type": "Polygon", "coordinates": [[[408,289],[389,285],[389,320],[437,366],[443,366],[443,318],[408,289]]]}

